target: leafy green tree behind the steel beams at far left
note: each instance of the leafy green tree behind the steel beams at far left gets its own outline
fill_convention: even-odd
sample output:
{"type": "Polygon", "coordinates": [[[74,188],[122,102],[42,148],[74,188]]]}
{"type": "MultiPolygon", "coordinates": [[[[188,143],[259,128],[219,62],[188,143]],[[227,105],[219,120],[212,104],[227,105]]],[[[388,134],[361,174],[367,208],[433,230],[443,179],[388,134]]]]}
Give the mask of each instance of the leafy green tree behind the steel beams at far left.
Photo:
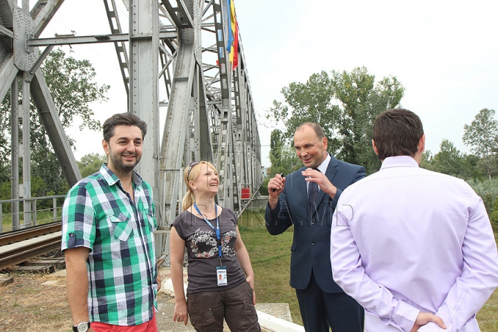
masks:
{"type": "MultiPolygon", "coordinates": [[[[109,90],[108,85],[99,85],[93,82],[95,69],[88,60],[76,60],[66,57],[64,51],[53,50],[42,64],[42,71],[50,94],[52,95],[55,108],[64,129],[73,124],[75,118],[80,118],[82,124],[80,129],[87,127],[91,130],[100,130],[100,122],[94,120],[94,112],[89,107],[91,102],[107,101],[105,94],[109,90]]],[[[19,84],[19,97],[22,93],[22,84],[19,84]]],[[[68,185],[62,176],[57,158],[50,145],[46,131],[39,121],[37,110],[33,103],[30,104],[30,148],[32,151],[32,176],[40,176],[44,179],[46,187],[41,192],[48,194],[65,193],[68,185]]],[[[21,119],[19,126],[21,127],[21,119]]],[[[0,104],[0,158],[10,160],[10,93],[0,104]]],[[[22,138],[21,132],[19,138],[22,138]]],[[[73,145],[71,136],[66,133],[68,140],[73,145]]],[[[32,181],[33,183],[33,181],[32,181]]],[[[34,193],[34,191],[33,191],[34,193]]]]}

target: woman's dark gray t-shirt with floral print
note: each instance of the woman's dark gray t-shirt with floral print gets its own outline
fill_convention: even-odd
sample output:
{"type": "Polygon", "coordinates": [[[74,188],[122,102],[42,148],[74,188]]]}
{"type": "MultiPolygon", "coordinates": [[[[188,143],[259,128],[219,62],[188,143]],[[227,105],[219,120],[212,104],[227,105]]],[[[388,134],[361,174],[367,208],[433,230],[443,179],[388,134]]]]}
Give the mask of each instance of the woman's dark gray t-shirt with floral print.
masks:
{"type": "MultiPolygon", "coordinates": [[[[216,219],[209,220],[216,228],[216,219]]],[[[216,267],[220,266],[216,231],[204,219],[183,211],[176,216],[172,226],[185,241],[188,252],[187,293],[221,291],[246,281],[241,265],[234,250],[237,239],[237,215],[223,208],[218,217],[221,237],[221,263],[227,269],[227,286],[218,286],[216,267]]]]}

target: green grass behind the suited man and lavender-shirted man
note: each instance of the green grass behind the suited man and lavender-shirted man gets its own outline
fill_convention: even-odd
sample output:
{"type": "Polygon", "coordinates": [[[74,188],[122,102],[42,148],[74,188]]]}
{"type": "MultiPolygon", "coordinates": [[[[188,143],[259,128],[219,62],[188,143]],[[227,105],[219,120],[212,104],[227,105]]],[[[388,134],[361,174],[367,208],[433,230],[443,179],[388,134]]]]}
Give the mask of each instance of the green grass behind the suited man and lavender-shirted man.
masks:
{"type": "MultiPolygon", "coordinates": [[[[264,210],[246,211],[239,219],[241,238],[255,271],[256,302],[288,303],[293,322],[302,324],[295,290],[289,286],[293,228],[270,235],[264,225],[264,210]]],[[[495,232],[498,242],[498,233],[495,232]]],[[[477,313],[482,332],[498,331],[498,289],[477,313]]]]}

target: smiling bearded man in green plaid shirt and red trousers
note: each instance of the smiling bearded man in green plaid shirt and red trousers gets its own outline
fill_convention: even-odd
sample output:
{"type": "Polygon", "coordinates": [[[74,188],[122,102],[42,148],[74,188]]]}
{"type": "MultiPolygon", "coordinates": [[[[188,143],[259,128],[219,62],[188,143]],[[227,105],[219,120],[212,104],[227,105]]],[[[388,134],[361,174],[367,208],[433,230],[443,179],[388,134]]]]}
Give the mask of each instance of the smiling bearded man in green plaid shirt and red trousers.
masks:
{"type": "Polygon", "coordinates": [[[133,172],[147,124],[122,113],[102,129],[108,163],[69,190],[62,210],[73,331],[156,332],[155,208],[150,185],[133,172]]]}

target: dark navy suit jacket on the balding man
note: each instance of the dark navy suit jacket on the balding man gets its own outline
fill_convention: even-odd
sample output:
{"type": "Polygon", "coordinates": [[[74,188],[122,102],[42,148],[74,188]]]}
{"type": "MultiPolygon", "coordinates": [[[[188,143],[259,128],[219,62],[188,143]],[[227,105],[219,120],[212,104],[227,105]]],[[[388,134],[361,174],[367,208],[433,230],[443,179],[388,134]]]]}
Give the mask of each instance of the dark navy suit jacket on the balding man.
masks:
{"type": "Polygon", "coordinates": [[[342,288],[332,278],[330,261],[330,230],[335,205],[351,183],[365,177],[365,167],[344,163],[331,156],[326,177],[338,188],[334,199],[322,190],[315,205],[308,203],[306,181],[301,172],[286,176],[284,191],[274,210],[266,206],[266,229],[277,235],[294,225],[291,246],[291,286],[304,289],[308,286],[313,271],[317,284],[327,293],[342,293],[342,288]]]}

